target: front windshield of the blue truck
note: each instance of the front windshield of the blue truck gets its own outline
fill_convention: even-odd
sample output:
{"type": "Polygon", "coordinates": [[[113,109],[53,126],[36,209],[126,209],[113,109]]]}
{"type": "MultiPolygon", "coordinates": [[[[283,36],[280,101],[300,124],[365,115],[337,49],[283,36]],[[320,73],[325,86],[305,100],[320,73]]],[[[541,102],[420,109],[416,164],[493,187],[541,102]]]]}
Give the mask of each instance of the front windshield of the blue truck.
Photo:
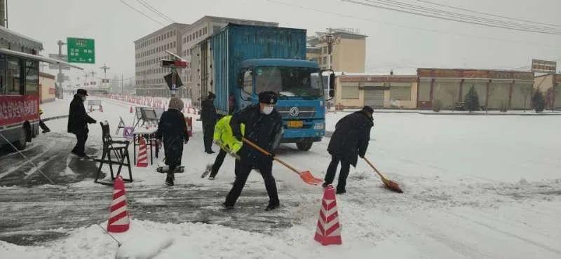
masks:
{"type": "Polygon", "coordinates": [[[321,97],[323,82],[318,69],[267,66],[255,69],[255,90],[274,91],[280,97],[321,97]]]}

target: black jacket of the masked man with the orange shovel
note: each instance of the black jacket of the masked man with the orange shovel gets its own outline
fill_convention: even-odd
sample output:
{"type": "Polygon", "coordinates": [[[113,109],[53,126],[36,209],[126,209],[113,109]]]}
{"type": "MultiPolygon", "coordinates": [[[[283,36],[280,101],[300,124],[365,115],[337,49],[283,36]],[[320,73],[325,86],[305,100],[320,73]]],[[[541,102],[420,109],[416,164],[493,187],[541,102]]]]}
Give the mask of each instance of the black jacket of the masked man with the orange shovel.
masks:
{"type": "MultiPolygon", "coordinates": [[[[278,147],[283,134],[283,120],[278,111],[273,110],[269,115],[265,115],[259,111],[259,104],[256,104],[234,113],[230,120],[234,136],[241,136],[241,123],[245,125],[245,139],[270,153],[278,147]]],[[[241,162],[247,165],[266,165],[265,163],[272,161],[271,157],[263,155],[248,144],[243,144],[238,155],[241,162]]]]}

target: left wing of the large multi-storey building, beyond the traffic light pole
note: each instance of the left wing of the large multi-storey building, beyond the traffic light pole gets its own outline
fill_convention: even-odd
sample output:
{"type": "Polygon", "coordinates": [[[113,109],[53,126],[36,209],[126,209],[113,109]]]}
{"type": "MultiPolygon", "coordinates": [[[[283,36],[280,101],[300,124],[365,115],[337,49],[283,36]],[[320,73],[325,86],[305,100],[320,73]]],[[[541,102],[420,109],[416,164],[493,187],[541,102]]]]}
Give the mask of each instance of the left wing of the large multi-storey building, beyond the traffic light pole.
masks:
{"type": "MultiPolygon", "coordinates": [[[[177,55],[182,52],[180,31],[186,27],[189,25],[173,23],[134,42],[136,94],[161,97],[169,95],[163,76],[170,73],[170,69],[161,67],[161,59],[171,58],[165,50],[177,55]]],[[[180,97],[186,96],[185,87],[181,87],[177,94],[180,97]]]]}

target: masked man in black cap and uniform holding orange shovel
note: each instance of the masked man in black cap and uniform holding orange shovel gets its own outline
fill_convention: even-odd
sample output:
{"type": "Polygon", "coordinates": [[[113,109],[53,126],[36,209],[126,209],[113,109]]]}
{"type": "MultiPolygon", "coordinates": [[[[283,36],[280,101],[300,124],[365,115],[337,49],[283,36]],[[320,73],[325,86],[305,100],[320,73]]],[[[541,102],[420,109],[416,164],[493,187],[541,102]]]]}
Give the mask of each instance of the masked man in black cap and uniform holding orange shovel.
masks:
{"type": "MultiPolygon", "coordinates": [[[[259,94],[259,104],[248,106],[235,113],[230,120],[230,126],[236,139],[242,140],[241,125],[243,124],[245,125],[245,138],[272,154],[283,136],[283,122],[280,113],[275,110],[276,102],[276,92],[261,92],[259,94]]],[[[266,210],[270,211],[278,208],[280,202],[278,201],[275,179],[271,172],[273,158],[260,153],[247,144],[243,144],[238,151],[238,156],[240,160],[236,160],[236,181],[234,181],[234,186],[226,197],[226,202],[222,205],[227,209],[234,208],[251,170],[257,169],[263,177],[267,195],[269,195],[269,205],[267,205],[266,210]]]]}

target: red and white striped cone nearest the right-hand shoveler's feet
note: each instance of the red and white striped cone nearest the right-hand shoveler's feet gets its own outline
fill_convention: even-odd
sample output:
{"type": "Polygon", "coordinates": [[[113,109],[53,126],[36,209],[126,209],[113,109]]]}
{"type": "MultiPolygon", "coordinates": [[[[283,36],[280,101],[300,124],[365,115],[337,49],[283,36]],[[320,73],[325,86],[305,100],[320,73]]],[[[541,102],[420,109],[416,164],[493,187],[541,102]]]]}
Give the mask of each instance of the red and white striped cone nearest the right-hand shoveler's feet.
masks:
{"type": "Polygon", "coordinates": [[[318,228],[316,230],[316,237],[313,239],[316,239],[324,246],[342,244],[337,201],[335,201],[335,190],[333,190],[332,185],[327,186],[323,192],[318,228]]]}

